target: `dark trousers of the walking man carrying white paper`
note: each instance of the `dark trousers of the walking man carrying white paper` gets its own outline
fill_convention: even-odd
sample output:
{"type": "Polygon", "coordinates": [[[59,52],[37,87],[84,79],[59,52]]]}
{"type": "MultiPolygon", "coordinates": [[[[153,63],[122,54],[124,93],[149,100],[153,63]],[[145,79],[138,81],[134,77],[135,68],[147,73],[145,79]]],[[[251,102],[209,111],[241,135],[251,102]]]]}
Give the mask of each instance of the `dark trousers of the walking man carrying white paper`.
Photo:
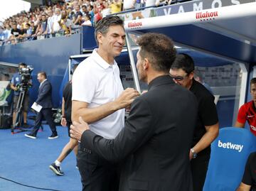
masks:
{"type": "Polygon", "coordinates": [[[34,126],[33,130],[31,131],[31,134],[36,136],[36,134],[42,124],[43,117],[44,117],[44,119],[46,119],[47,123],[49,124],[50,130],[53,131],[53,133],[57,134],[56,126],[53,122],[53,112],[52,112],[51,108],[41,109],[41,111],[37,114],[35,126],[34,126]]]}

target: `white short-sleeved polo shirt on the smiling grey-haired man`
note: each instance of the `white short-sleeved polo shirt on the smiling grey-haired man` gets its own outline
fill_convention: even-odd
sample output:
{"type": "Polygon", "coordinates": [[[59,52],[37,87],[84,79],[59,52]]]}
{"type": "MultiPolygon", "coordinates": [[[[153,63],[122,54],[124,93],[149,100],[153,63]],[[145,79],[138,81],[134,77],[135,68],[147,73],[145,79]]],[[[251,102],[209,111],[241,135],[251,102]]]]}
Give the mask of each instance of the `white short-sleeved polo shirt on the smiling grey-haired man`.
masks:
{"type": "MultiPolygon", "coordinates": [[[[108,64],[97,49],[78,65],[72,78],[72,100],[87,102],[88,108],[114,101],[123,91],[119,67],[108,64]]],[[[124,109],[90,124],[90,130],[104,138],[113,139],[124,127],[124,109]]]]}

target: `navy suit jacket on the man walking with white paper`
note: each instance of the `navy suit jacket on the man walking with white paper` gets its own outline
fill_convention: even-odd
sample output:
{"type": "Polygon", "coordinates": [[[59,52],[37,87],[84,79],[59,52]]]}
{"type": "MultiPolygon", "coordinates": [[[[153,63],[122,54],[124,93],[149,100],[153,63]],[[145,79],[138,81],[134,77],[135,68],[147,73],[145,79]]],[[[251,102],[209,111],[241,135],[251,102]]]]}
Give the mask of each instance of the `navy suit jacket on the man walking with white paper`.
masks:
{"type": "Polygon", "coordinates": [[[36,103],[41,105],[44,108],[53,108],[52,102],[52,86],[48,80],[43,82],[41,87],[38,90],[38,99],[36,103]]]}

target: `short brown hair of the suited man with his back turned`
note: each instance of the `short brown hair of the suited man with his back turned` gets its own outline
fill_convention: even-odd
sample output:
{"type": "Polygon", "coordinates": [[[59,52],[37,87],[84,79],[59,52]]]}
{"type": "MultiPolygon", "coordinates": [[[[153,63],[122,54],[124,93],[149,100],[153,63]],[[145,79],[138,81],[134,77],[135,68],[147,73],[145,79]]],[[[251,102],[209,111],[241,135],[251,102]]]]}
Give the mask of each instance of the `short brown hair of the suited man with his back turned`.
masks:
{"type": "Polygon", "coordinates": [[[168,36],[159,33],[146,33],[137,40],[139,55],[147,58],[154,70],[168,72],[176,57],[174,42],[168,36]]]}

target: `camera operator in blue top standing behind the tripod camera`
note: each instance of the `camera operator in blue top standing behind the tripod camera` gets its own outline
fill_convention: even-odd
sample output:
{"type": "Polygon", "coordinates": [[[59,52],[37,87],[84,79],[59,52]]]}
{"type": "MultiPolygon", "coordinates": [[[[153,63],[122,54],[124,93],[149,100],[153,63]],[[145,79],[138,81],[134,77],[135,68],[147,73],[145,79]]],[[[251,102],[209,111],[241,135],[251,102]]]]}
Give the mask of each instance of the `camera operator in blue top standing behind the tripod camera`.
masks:
{"type": "MultiPolygon", "coordinates": [[[[11,79],[11,89],[14,90],[14,114],[13,114],[13,126],[15,127],[16,125],[16,114],[17,114],[17,106],[18,106],[18,99],[19,99],[19,95],[21,93],[21,90],[23,89],[23,80],[22,80],[22,68],[27,67],[27,65],[25,63],[19,63],[18,64],[18,72],[16,74],[14,74],[14,76],[11,79]]],[[[28,84],[32,86],[32,82],[31,80],[28,80],[28,84]]],[[[22,111],[23,111],[23,127],[28,127],[27,124],[27,114],[28,114],[28,104],[29,104],[29,94],[28,94],[28,87],[26,87],[25,89],[25,95],[23,98],[23,103],[22,103],[22,111]]]]}

